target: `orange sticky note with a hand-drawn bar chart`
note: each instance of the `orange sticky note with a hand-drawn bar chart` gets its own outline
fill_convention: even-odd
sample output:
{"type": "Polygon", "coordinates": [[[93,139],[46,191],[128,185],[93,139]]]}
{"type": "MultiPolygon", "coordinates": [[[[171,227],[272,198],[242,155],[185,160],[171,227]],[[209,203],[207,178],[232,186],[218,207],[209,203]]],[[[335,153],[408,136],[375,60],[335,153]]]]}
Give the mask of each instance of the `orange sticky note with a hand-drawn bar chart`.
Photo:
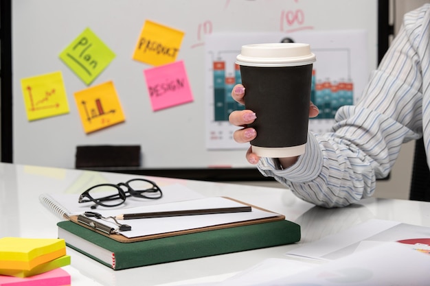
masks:
{"type": "Polygon", "coordinates": [[[86,133],[125,121],[112,81],[78,91],[74,95],[86,133]]]}

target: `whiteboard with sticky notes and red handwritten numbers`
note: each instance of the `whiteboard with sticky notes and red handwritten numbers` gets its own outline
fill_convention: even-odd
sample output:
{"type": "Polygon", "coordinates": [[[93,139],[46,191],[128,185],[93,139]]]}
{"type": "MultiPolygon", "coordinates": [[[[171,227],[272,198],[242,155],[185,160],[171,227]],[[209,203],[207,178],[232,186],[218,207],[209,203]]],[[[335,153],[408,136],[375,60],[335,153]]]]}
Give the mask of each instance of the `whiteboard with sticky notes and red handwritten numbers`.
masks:
{"type": "Polygon", "coordinates": [[[373,0],[12,1],[13,162],[71,168],[78,145],[141,145],[145,169],[250,167],[245,146],[206,147],[205,36],[365,29],[370,72],[377,62],[377,5],[373,0]],[[152,110],[143,73],[152,66],[132,59],[146,20],[185,33],[176,60],[184,62],[192,102],[152,110]],[[73,97],[89,86],[58,58],[87,27],[115,53],[90,86],[113,81],[126,117],[124,123],[89,134],[73,97]],[[54,71],[63,74],[69,112],[28,121],[21,79],[54,71]]]}

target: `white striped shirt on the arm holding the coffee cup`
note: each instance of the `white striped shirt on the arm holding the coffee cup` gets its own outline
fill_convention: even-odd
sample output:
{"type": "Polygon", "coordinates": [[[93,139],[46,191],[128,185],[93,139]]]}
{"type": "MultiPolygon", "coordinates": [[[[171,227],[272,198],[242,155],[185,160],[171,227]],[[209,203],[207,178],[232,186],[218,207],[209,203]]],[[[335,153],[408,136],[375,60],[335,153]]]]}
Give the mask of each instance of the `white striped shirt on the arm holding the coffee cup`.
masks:
{"type": "MultiPolygon", "coordinates": [[[[262,158],[258,169],[297,197],[324,207],[370,197],[402,143],[423,136],[430,154],[430,4],[408,12],[356,106],[339,108],[332,132],[309,132],[306,153],[287,169],[262,158]]],[[[429,163],[429,157],[427,157],[429,163]]]]}

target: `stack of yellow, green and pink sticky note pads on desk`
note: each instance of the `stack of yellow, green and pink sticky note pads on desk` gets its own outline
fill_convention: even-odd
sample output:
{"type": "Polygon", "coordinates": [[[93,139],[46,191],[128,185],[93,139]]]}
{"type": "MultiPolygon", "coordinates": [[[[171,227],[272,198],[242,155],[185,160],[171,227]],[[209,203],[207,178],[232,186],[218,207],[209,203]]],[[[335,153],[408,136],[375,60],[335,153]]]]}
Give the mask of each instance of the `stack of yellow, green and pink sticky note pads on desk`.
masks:
{"type": "Polygon", "coordinates": [[[0,239],[0,286],[70,285],[69,264],[64,239],[0,239]]]}

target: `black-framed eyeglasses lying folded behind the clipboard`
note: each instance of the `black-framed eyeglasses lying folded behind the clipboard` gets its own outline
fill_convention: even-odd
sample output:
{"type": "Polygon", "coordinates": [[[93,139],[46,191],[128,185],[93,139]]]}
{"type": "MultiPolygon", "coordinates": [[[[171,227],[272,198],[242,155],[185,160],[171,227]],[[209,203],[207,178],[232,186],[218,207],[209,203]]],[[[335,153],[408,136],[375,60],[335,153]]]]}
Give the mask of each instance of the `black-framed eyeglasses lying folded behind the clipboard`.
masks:
{"type": "Polygon", "coordinates": [[[162,196],[163,192],[155,182],[137,178],[118,184],[96,184],[84,191],[78,202],[94,202],[91,208],[98,205],[112,207],[124,204],[128,197],[157,200],[162,196]]]}

